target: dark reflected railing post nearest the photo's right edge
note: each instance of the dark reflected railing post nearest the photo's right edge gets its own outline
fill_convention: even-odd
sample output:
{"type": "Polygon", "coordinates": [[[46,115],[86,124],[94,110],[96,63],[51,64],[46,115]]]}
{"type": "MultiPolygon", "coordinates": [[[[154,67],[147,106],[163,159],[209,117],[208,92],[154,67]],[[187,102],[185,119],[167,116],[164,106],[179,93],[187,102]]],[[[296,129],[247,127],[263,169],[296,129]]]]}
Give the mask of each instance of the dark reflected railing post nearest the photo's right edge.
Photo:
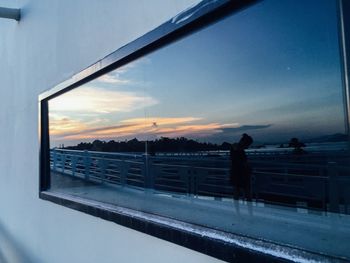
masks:
{"type": "Polygon", "coordinates": [[[329,187],[329,211],[339,212],[339,193],[338,193],[338,172],[337,163],[329,162],[327,166],[328,187],[329,187]]]}

